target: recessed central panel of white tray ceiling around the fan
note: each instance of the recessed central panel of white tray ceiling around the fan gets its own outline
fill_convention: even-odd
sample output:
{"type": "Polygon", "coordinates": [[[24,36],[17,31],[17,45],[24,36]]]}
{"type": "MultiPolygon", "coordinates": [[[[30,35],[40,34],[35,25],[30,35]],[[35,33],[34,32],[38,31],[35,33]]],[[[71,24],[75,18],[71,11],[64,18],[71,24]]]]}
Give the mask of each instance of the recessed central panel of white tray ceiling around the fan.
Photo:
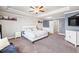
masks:
{"type": "MultiPolygon", "coordinates": [[[[56,10],[56,9],[59,9],[59,8],[63,8],[63,7],[64,6],[45,6],[44,7],[45,12],[42,12],[42,13],[40,12],[38,15],[49,12],[49,11],[56,10]]],[[[30,10],[32,10],[30,8],[30,6],[9,6],[9,8],[13,8],[13,9],[16,9],[16,10],[20,10],[20,11],[23,11],[23,12],[26,12],[26,13],[33,14],[33,13],[29,12],[30,10]]],[[[36,15],[36,14],[34,14],[34,15],[36,15]]]]}

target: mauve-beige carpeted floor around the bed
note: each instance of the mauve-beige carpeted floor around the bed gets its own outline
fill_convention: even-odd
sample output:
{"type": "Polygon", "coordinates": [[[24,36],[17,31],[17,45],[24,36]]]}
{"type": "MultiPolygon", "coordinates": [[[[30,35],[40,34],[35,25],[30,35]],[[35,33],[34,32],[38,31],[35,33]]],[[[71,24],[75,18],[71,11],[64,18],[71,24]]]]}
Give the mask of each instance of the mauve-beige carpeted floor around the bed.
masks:
{"type": "Polygon", "coordinates": [[[18,53],[77,53],[79,47],[65,41],[64,36],[53,34],[41,39],[34,44],[21,37],[10,39],[10,42],[17,47],[18,53]]]}

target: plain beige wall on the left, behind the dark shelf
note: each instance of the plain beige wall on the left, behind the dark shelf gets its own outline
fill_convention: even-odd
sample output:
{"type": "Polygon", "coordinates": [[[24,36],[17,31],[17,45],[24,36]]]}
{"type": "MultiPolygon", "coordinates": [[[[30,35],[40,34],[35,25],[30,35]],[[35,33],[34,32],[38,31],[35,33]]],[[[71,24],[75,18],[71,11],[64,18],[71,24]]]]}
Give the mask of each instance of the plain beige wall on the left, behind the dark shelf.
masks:
{"type": "Polygon", "coordinates": [[[0,12],[0,15],[17,17],[17,21],[0,20],[3,37],[13,37],[14,33],[21,31],[23,26],[35,26],[38,21],[35,17],[15,15],[7,12],[0,12]]]}

